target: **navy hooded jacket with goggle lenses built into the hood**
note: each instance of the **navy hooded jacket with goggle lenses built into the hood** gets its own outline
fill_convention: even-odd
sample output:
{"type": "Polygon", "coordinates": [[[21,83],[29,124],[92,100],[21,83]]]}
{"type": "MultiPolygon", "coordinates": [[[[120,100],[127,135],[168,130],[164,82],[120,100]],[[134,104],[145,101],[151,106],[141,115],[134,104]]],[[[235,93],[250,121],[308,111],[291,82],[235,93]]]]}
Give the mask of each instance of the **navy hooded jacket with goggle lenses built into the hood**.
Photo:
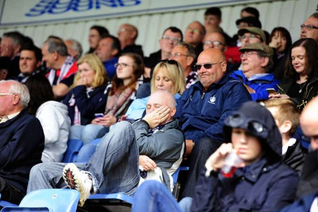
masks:
{"type": "MultiPolygon", "coordinates": [[[[255,102],[248,105],[251,107],[242,107],[240,112],[235,112],[244,113],[246,120],[238,127],[250,128],[245,125],[248,119],[266,127],[266,139],[250,133],[261,142],[261,158],[238,168],[231,178],[225,178],[219,172],[211,172],[206,177],[204,168],[196,183],[192,212],[276,212],[294,201],[299,177],[282,162],[282,140],[276,123],[266,108],[255,102]]],[[[231,138],[229,124],[226,120],[223,128],[226,138],[231,138]]]]}

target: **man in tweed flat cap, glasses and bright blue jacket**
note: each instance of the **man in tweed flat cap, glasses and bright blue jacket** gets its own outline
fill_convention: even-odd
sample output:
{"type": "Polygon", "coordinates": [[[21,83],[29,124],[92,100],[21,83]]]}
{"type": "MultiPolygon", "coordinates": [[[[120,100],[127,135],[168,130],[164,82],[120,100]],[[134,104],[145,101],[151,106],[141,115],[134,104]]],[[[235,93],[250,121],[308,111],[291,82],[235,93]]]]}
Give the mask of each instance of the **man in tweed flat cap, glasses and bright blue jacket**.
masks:
{"type": "Polygon", "coordinates": [[[277,91],[277,84],[280,82],[270,73],[274,66],[273,50],[266,44],[254,43],[240,48],[239,51],[242,53],[242,70],[234,71],[231,77],[245,85],[253,101],[268,99],[266,88],[277,91]]]}

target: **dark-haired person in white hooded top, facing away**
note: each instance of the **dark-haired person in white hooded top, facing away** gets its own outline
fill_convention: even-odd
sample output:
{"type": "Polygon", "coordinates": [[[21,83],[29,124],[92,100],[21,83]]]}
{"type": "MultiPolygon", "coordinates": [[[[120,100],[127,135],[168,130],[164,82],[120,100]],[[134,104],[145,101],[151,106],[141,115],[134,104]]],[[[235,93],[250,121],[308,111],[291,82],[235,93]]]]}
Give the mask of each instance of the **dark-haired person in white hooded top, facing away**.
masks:
{"type": "Polygon", "coordinates": [[[69,140],[71,119],[68,107],[53,101],[54,94],[48,79],[43,75],[33,75],[25,85],[30,91],[28,113],[35,116],[43,128],[45,142],[42,162],[61,162],[69,140]]]}

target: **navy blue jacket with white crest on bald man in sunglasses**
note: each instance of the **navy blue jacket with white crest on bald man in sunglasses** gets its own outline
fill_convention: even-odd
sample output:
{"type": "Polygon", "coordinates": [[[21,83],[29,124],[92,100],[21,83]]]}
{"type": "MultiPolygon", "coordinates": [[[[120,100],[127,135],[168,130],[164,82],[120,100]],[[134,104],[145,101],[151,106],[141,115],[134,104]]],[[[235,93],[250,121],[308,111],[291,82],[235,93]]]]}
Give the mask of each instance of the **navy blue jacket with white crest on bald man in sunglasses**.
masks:
{"type": "Polygon", "coordinates": [[[185,138],[198,141],[209,137],[224,141],[223,121],[243,102],[251,100],[244,85],[223,76],[203,91],[200,81],[186,89],[177,101],[174,117],[178,119],[185,138]]]}

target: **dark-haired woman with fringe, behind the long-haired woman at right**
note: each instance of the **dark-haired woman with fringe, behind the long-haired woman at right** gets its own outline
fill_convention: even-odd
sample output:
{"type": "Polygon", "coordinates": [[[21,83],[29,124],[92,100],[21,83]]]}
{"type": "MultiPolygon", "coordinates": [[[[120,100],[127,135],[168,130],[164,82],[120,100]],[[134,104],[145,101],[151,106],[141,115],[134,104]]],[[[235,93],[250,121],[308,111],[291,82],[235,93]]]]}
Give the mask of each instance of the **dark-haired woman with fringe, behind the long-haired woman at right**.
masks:
{"type": "Polygon", "coordinates": [[[280,81],[284,78],[288,50],[291,45],[292,38],[287,29],[284,27],[276,27],[273,29],[269,37],[269,46],[276,51],[278,61],[276,62],[274,75],[280,81]]]}

